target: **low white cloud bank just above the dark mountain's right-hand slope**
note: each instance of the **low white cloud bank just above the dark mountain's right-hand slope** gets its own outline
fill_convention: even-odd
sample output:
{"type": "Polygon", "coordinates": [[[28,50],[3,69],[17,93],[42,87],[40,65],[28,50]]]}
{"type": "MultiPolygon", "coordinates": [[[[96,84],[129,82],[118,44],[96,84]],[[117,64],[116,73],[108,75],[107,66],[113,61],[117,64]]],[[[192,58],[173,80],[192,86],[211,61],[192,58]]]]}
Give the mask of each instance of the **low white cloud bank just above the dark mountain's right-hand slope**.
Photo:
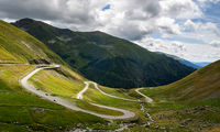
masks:
{"type": "Polygon", "coordinates": [[[191,62],[215,62],[220,59],[220,46],[217,47],[209,44],[189,44],[152,37],[144,37],[135,43],[152,52],[163,52],[191,62]]]}

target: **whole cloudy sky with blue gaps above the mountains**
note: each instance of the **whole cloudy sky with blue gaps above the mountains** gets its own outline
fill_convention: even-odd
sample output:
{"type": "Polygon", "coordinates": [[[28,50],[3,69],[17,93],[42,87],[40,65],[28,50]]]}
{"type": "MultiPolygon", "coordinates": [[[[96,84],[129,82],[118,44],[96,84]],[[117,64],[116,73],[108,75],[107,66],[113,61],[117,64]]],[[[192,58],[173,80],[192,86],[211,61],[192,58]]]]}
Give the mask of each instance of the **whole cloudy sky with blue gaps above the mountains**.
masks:
{"type": "Polygon", "coordinates": [[[0,0],[0,19],[102,31],[191,62],[220,59],[220,0],[0,0]]]}

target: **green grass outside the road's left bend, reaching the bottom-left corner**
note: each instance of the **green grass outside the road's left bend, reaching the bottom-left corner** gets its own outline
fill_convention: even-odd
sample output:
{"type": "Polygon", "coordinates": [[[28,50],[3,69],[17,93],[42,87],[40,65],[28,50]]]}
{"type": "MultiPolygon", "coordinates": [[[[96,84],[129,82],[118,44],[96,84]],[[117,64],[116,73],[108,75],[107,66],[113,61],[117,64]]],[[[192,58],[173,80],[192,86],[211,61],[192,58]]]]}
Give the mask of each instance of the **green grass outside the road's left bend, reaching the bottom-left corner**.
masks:
{"type": "Polygon", "coordinates": [[[0,66],[0,131],[55,131],[102,119],[65,109],[20,87],[19,78],[34,66],[0,66]],[[44,109],[42,113],[34,109],[44,109]]]}

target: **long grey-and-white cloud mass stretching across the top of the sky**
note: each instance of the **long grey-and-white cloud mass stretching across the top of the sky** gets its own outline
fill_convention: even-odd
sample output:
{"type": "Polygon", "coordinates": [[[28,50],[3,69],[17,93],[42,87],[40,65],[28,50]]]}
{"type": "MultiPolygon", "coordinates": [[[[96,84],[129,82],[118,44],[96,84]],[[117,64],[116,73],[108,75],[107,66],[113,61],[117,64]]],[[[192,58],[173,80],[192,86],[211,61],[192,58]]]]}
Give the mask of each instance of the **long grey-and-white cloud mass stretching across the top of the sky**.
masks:
{"type": "Polygon", "coordinates": [[[180,34],[176,19],[197,18],[193,0],[0,0],[0,18],[33,18],[79,31],[101,30],[129,40],[180,34]],[[101,9],[110,4],[109,10],[101,9]]]}

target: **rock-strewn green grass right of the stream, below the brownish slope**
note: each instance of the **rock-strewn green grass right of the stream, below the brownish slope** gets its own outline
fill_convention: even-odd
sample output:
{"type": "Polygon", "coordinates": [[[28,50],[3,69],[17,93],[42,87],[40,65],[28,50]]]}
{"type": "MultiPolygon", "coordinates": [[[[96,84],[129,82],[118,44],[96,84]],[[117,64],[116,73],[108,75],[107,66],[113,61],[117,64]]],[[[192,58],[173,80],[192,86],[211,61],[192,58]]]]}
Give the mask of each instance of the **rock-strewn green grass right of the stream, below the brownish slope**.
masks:
{"type": "Polygon", "coordinates": [[[186,103],[173,100],[163,95],[161,87],[140,90],[154,99],[147,107],[153,116],[154,127],[166,128],[168,131],[208,131],[220,130],[220,99],[207,99],[186,103]]]}

